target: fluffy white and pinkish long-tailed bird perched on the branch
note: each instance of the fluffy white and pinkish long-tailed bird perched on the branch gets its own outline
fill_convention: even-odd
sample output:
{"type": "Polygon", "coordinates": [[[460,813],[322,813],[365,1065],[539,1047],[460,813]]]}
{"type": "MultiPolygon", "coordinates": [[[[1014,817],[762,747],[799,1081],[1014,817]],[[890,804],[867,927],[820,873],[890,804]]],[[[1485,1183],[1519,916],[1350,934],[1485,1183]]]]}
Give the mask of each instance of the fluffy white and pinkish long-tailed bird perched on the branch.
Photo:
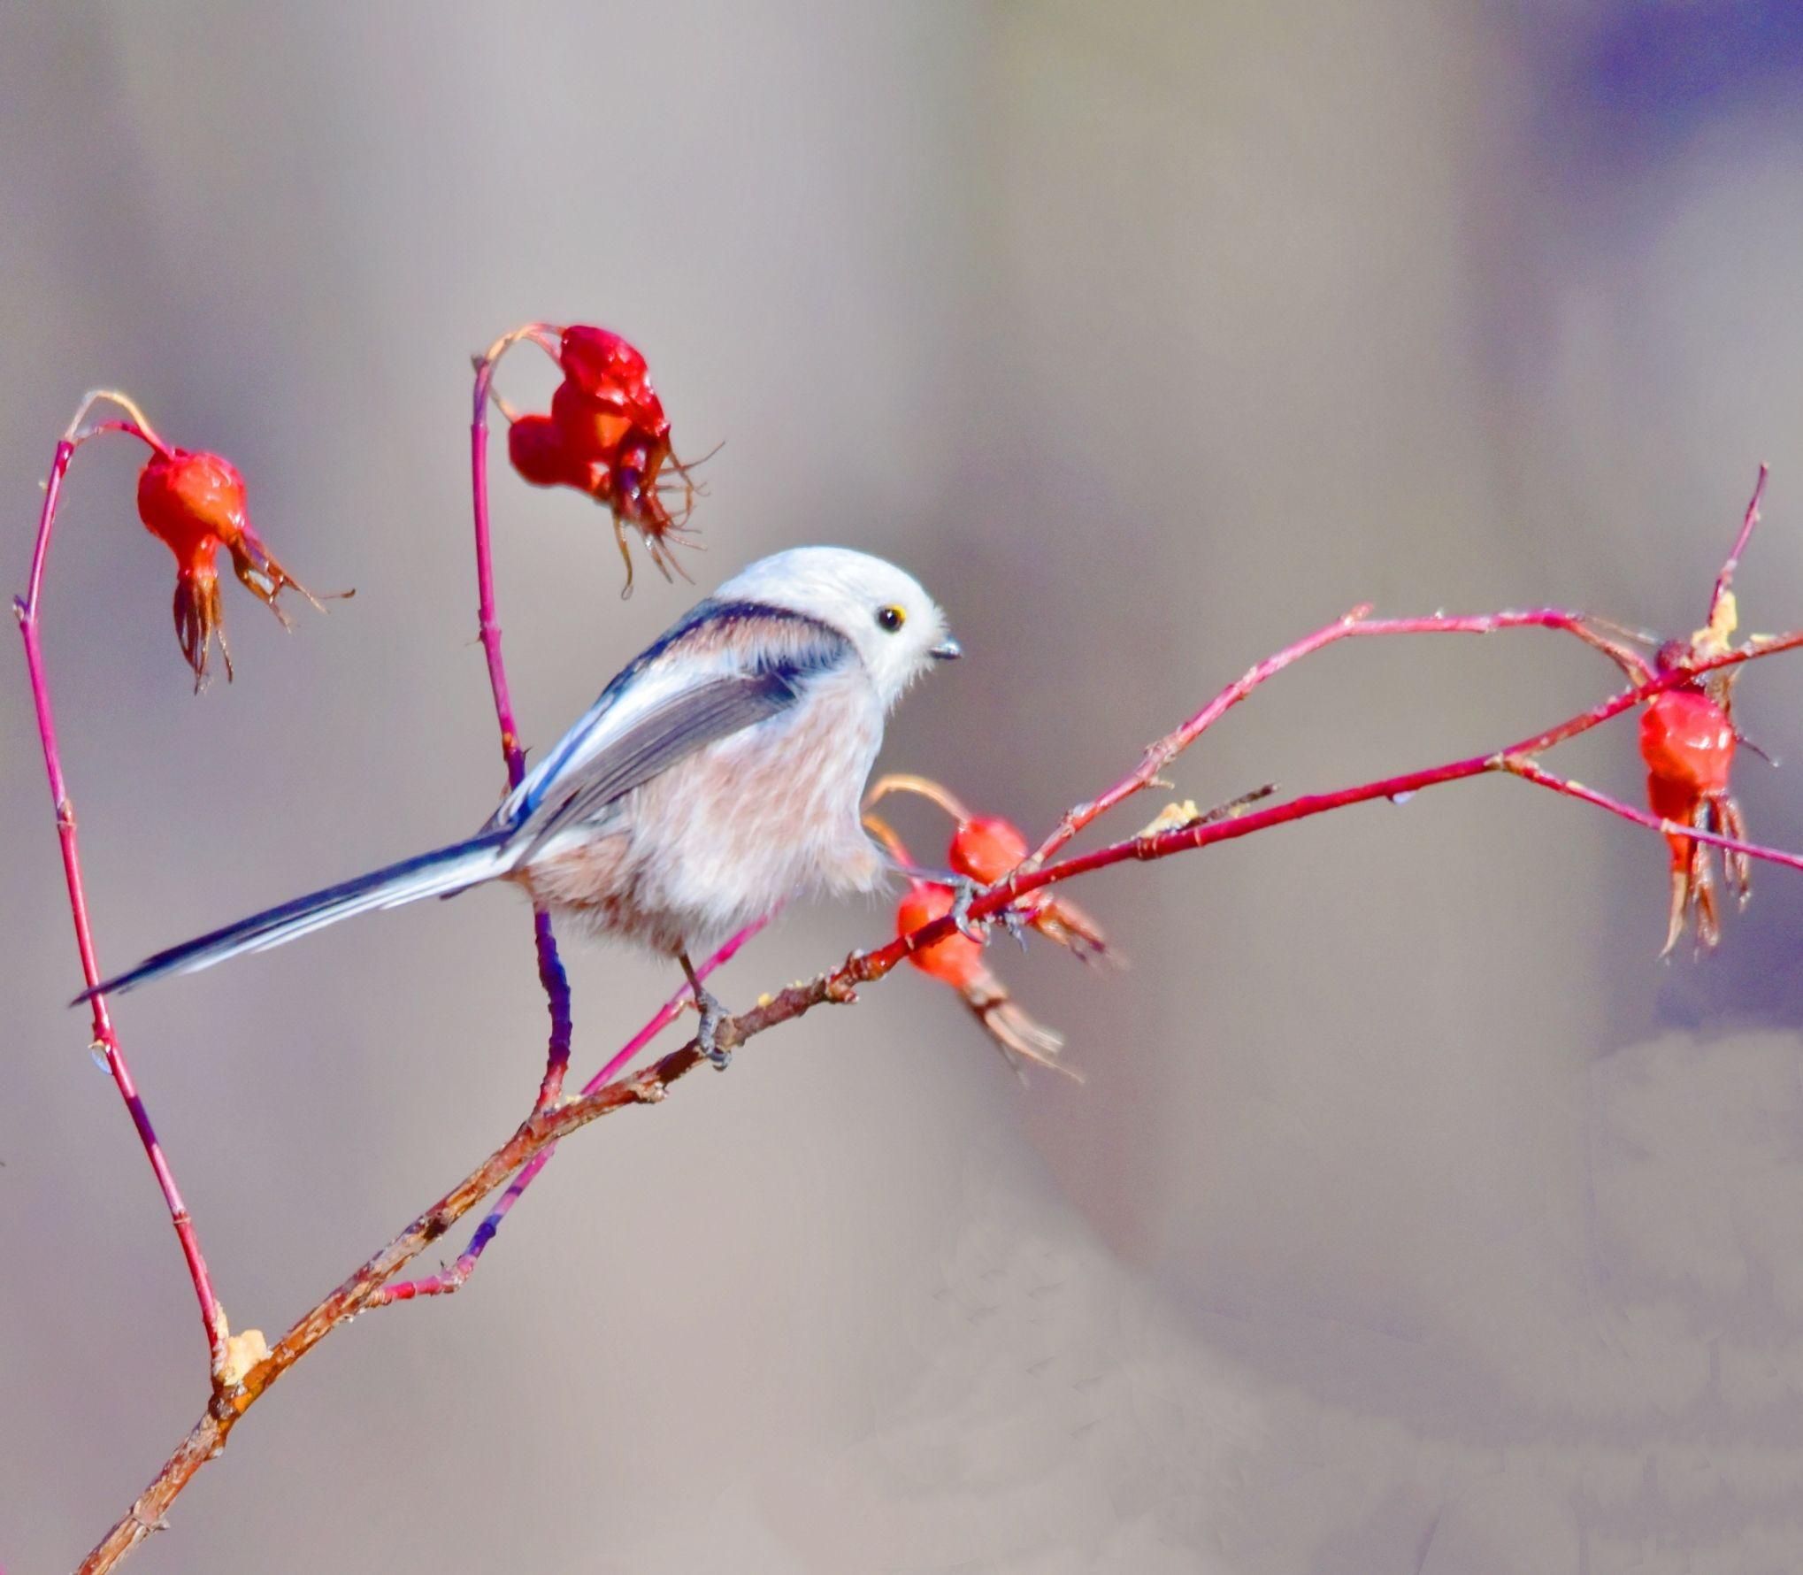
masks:
{"type": "MultiPolygon", "coordinates": [[[[512,880],[590,933],[676,958],[716,1064],[719,1003],[691,953],[804,891],[874,889],[858,801],[883,718],[959,653],[892,563],[797,547],[727,581],[640,653],[463,843],[160,951],[117,994],[355,913],[512,880]]],[[[85,999],[83,996],[81,999],[85,999]]]]}

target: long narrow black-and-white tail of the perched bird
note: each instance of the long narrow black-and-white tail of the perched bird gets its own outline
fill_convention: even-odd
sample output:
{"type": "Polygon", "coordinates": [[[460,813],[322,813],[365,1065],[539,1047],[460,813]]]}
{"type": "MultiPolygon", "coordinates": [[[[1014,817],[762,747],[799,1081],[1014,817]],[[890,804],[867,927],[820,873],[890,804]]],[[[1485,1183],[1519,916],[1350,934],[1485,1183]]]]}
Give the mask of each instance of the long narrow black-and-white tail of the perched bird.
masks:
{"type": "Polygon", "coordinates": [[[370,913],[377,907],[398,907],[402,902],[416,902],[422,897],[449,897],[453,891],[462,891],[467,886],[505,873],[512,864],[512,857],[505,848],[510,835],[508,830],[487,832],[480,837],[471,837],[467,843],[435,848],[431,853],[420,853],[416,859],[404,859],[384,870],[371,870],[355,880],[344,880],[337,886],[328,886],[325,891],[314,891],[310,897],[296,897],[292,902],[283,902],[267,913],[254,913],[251,918],[240,918],[224,929],[215,929],[209,935],[171,945],[168,951],[159,951],[155,956],[144,958],[130,972],[106,980],[92,990],[83,990],[72,1005],[79,1005],[88,996],[115,996],[146,985],[151,980],[209,969],[213,963],[225,962],[225,958],[238,956],[240,953],[267,951],[272,945],[283,945],[303,935],[312,935],[316,929],[325,929],[328,924],[337,924],[341,918],[352,918],[357,913],[370,913]]]}

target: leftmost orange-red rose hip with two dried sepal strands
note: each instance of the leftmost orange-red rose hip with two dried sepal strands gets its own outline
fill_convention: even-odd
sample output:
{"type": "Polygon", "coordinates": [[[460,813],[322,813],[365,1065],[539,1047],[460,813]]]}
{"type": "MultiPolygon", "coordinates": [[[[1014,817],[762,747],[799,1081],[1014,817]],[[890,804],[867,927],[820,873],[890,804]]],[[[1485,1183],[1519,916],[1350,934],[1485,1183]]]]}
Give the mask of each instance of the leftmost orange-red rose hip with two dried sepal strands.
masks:
{"type": "Polygon", "coordinates": [[[245,505],[243,476],[220,455],[195,449],[153,453],[137,478],[137,514],[144,529],[175,554],[175,637],[193,668],[197,691],[207,680],[215,640],[231,680],[218,581],[222,547],[238,581],[283,626],[288,619],[276,597],[288,586],[319,606],[319,599],[276,561],[256,534],[245,505]]]}

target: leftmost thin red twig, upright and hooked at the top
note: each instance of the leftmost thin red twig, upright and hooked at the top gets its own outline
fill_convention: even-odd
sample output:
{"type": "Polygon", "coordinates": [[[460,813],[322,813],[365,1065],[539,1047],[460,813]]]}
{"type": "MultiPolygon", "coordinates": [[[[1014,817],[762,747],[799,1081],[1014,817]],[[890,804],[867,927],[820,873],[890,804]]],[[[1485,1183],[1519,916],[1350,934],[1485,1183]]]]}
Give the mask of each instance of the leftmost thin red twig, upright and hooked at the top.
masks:
{"type": "MultiPolygon", "coordinates": [[[[38,516],[38,539],[31,554],[31,581],[27,583],[25,595],[14,599],[13,603],[13,610],[18,615],[18,631],[25,640],[25,668],[31,675],[31,704],[38,714],[38,738],[43,743],[43,772],[50,785],[50,803],[56,808],[56,839],[63,852],[63,880],[69,886],[69,915],[76,926],[76,951],[81,953],[81,978],[88,989],[97,985],[103,974],[94,951],[94,931],[88,924],[88,898],[81,880],[81,848],[76,839],[76,806],[69,796],[69,783],[63,778],[63,760],[56,738],[56,713],[50,709],[50,678],[43,660],[43,644],[40,640],[40,610],[43,572],[50,552],[50,532],[56,527],[56,505],[61,498],[63,476],[69,473],[69,462],[74,456],[76,447],[88,437],[96,437],[99,431],[123,431],[142,440],[159,453],[168,453],[166,444],[155,435],[137,406],[123,395],[99,391],[83,399],[74,420],[70,420],[69,429],[56,444],[56,456],[50,460],[50,474],[45,478],[43,485],[43,512],[38,516]],[[83,428],[81,422],[97,399],[110,399],[115,404],[121,404],[130,411],[132,420],[106,420],[96,428],[83,428]]],[[[157,1140],[157,1129],[151,1126],[144,1097],[137,1091],[137,1081],[132,1077],[132,1066],[126,1061],[124,1050],[119,1045],[119,1036],[114,1032],[112,1016],[106,1010],[106,998],[94,996],[90,1001],[90,1012],[94,1023],[94,1045],[106,1061],[106,1070],[112,1073],[119,1097],[124,1101],[126,1113],[132,1117],[132,1126],[137,1128],[137,1138],[144,1146],[144,1156],[150,1160],[150,1167],[157,1176],[157,1187],[162,1191],[162,1202],[169,1209],[169,1221],[175,1225],[175,1238],[182,1245],[182,1257],[188,1261],[188,1277],[195,1285],[195,1299],[200,1303],[200,1319],[206,1326],[213,1380],[215,1386],[218,1386],[225,1371],[227,1328],[225,1313],[220,1308],[218,1297],[213,1294],[213,1279],[207,1274],[206,1256],[200,1250],[200,1234],[195,1230],[193,1216],[189,1216],[188,1205],[182,1202],[182,1191],[175,1184],[175,1171],[169,1167],[168,1155],[164,1155],[162,1144],[157,1140]]]]}

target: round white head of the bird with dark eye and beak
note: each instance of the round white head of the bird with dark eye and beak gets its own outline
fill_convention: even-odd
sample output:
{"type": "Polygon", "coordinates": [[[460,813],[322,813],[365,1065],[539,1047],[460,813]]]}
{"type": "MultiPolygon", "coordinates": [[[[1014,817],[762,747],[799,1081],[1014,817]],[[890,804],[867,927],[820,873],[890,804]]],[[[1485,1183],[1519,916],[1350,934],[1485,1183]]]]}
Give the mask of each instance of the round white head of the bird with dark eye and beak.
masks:
{"type": "Polygon", "coordinates": [[[714,597],[784,608],[838,630],[864,660],[885,709],[934,662],[959,655],[945,613],[912,574],[849,547],[792,547],[761,557],[714,597]]]}

